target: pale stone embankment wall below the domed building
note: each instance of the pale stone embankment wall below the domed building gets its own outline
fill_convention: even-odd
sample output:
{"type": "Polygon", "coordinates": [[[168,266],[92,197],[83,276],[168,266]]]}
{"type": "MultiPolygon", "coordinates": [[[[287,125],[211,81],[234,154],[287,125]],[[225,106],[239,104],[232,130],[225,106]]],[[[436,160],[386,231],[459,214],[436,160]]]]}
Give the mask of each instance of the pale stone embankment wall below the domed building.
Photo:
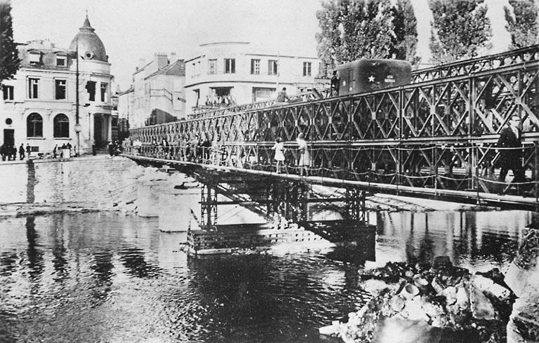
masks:
{"type": "Polygon", "coordinates": [[[121,193],[136,166],[109,156],[0,162],[0,204],[105,203],[121,193]]]}

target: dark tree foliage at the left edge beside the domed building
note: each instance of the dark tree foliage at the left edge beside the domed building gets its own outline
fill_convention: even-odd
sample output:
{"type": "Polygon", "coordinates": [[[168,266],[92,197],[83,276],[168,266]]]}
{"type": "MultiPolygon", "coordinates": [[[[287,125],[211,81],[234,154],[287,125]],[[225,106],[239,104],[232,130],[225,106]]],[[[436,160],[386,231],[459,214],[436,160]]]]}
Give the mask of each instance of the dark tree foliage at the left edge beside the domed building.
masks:
{"type": "Polygon", "coordinates": [[[12,79],[20,66],[17,44],[13,41],[11,6],[0,1],[0,83],[12,79]]]}

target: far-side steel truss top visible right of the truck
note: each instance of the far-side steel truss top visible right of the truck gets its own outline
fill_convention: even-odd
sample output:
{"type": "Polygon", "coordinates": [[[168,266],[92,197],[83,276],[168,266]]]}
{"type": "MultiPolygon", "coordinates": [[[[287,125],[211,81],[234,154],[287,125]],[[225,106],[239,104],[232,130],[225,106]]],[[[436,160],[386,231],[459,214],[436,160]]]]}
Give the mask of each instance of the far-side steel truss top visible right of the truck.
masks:
{"type": "Polygon", "coordinates": [[[472,58],[459,62],[447,63],[437,67],[419,69],[412,72],[414,83],[443,79],[459,75],[466,75],[474,72],[484,72],[486,70],[518,65],[523,62],[533,62],[539,60],[539,45],[527,46],[504,53],[472,58]]]}

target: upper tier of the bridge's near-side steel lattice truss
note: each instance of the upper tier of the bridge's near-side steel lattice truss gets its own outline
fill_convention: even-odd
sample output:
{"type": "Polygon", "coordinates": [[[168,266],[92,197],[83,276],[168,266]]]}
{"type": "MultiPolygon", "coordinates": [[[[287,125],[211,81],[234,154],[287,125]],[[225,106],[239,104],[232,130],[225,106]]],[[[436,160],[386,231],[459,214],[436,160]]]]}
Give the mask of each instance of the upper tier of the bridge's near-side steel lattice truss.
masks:
{"type": "Polygon", "coordinates": [[[384,142],[498,135],[519,114],[539,132],[539,61],[371,93],[331,97],[131,130],[131,140],[384,142]]]}

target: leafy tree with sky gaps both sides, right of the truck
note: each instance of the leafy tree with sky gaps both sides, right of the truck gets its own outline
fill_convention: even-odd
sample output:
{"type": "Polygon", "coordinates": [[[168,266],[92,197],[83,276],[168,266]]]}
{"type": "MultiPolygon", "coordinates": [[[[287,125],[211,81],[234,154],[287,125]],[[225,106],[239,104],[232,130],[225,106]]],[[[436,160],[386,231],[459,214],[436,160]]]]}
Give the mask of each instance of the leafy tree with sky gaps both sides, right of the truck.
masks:
{"type": "Polygon", "coordinates": [[[484,0],[429,0],[432,62],[447,63],[474,58],[492,44],[491,22],[484,0]]]}

